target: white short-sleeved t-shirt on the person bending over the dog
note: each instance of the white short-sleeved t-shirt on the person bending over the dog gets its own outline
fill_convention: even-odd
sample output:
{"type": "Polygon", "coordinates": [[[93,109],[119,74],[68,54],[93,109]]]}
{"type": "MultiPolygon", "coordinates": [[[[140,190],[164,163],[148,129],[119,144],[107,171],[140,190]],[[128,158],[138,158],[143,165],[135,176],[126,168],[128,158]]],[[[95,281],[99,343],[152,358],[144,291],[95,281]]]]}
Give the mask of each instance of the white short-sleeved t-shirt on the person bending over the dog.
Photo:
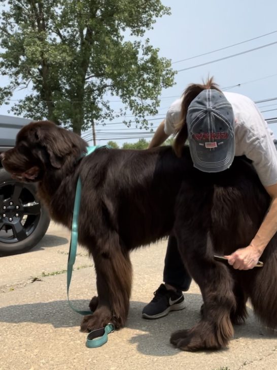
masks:
{"type": "MultiPolygon", "coordinates": [[[[263,184],[277,183],[277,150],[274,136],[255,103],[241,94],[224,93],[235,116],[235,156],[245,155],[263,184]]],[[[182,98],[172,103],[166,113],[164,132],[171,135],[180,121],[182,98]]]]}

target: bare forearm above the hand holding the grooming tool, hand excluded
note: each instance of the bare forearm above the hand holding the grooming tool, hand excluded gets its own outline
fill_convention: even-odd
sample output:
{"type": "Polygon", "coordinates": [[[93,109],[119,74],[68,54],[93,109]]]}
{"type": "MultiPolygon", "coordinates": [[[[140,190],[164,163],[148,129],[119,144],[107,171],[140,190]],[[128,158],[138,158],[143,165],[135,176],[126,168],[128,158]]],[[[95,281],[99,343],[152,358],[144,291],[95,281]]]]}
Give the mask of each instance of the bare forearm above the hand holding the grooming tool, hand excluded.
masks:
{"type": "Polygon", "coordinates": [[[277,231],[277,198],[273,198],[268,212],[250,245],[261,255],[277,231]]]}

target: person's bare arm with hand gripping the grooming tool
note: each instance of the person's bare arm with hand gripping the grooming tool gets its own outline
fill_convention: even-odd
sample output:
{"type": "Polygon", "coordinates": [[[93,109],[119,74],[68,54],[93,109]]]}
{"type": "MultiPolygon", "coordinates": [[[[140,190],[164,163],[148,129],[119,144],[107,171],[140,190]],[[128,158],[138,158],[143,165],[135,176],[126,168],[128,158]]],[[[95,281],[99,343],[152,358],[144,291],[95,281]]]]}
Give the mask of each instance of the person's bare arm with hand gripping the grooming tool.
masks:
{"type": "Polygon", "coordinates": [[[225,256],[228,258],[228,263],[235,269],[253,268],[277,231],[277,184],[265,187],[265,190],[272,201],[257,234],[246,248],[240,248],[231,255],[225,256]]]}

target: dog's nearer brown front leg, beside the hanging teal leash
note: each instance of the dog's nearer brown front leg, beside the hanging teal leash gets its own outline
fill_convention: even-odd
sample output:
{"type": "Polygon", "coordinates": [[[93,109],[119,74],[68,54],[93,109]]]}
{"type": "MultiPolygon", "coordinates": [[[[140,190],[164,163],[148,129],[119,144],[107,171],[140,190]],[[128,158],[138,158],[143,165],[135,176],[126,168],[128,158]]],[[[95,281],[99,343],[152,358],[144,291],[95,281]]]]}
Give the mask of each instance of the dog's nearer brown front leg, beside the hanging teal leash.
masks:
{"type": "Polygon", "coordinates": [[[98,304],[93,315],[84,317],[81,330],[91,331],[108,323],[120,328],[124,326],[129,311],[132,284],[129,253],[122,250],[119,244],[112,245],[111,248],[107,248],[106,244],[106,248],[103,246],[100,249],[95,248],[93,259],[98,304]]]}

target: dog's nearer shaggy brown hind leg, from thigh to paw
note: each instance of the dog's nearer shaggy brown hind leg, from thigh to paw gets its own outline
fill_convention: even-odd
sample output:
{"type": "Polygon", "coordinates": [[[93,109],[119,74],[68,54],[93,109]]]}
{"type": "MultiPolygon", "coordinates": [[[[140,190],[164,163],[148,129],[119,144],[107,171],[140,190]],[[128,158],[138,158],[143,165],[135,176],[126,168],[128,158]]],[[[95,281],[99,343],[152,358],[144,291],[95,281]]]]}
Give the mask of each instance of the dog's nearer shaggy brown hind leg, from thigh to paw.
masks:
{"type": "Polygon", "coordinates": [[[236,305],[231,274],[227,266],[213,259],[213,247],[207,242],[209,199],[201,199],[201,204],[191,201],[188,206],[186,202],[174,227],[183,262],[199,285],[204,301],[201,320],[192,329],[171,335],[170,342],[186,351],[225,347],[233,335],[230,314],[236,305]]]}

